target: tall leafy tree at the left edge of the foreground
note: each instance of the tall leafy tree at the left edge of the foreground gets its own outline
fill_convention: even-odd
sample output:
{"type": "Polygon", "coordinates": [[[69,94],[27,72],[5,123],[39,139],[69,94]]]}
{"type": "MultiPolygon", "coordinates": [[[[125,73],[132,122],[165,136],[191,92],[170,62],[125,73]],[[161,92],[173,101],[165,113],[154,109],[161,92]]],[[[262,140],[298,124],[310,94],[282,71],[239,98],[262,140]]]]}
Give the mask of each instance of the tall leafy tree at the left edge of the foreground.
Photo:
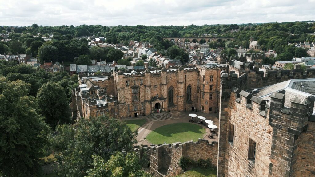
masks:
{"type": "Polygon", "coordinates": [[[39,158],[49,146],[49,126],[38,114],[31,84],[0,77],[0,171],[4,176],[42,176],[39,158]]]}

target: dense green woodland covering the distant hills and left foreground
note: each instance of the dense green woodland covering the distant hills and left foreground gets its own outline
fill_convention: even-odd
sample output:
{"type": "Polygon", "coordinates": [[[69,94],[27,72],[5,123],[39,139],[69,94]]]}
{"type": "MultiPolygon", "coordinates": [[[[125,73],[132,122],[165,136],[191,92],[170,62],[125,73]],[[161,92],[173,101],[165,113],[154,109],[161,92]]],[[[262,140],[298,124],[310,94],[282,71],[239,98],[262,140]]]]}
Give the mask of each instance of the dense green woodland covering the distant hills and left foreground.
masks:
{"type": "MultiPolygon", "coordinates": [[[[41,62],[78,64],[89,64],[90,59],[128,63],[128,60],[119,60],[120,50],[88,48],[83,36],[92,35],[106,37],[108,43],[150,42],[162,54],[182,61],[187,61],[188,54],[170,41],[163,41],[162,37],[203,33],[236,37],[233,42],[209,44],[210,47],[226,47],[222,53],[229,56],[235,54],[233,46],[247,48],[249,38],[253,37],[262,49],[278,53],[277,58],[265,59],[265,63],[306,55],[305,50],[288,43],[315,42],[315,36],[307,35],[315,31],[315,24],[306,22],[186,27],[33,24],[15,30],[0,27],[0,31],[12,32],[10,42],[0,42],[0,54],[32,54],[41,62]],[[45,42],[41,37],[33,37],[37,33],[54,36],[45,42]]],[[[156,65],[153,61],[151,64],[156,65]]],[[[67,72],[49,73],[16,61],[0,61],[0,176],[43,176],[39,160],[52,152],[59,162],[60,176],[150,176],[142,170],[147,166],[145,158],[139,159],[132,152],[136,132],[131,132],[125,123],[103,116],[74,124],[69,103],[71,90],[78,86],[77,79],[77,75],[70,76],[67,72]]]]}

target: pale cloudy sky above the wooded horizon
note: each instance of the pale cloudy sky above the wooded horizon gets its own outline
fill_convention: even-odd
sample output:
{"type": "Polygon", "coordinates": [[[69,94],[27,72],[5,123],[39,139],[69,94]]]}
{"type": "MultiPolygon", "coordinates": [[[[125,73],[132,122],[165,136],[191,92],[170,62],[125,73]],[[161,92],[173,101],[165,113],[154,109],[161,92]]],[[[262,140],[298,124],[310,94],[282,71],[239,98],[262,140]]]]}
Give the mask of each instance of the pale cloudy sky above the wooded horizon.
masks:
{"type": "Polygon", "coordinates": [[[0,25],[203,25],[315,20],[315,0],[0,0],[0,25]]]}

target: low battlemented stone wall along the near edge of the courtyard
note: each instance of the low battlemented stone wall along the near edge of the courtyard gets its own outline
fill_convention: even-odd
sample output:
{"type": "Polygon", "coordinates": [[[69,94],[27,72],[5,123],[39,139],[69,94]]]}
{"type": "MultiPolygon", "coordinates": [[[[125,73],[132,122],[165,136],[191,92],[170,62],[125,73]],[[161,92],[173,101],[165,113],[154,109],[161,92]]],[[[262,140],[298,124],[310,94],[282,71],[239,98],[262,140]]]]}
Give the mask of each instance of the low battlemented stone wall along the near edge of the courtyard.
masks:
{"type": "Polygon", "coordinates": [[[135,151],[141,154],[146,151],[150,160],[150,173],[154,176],[176,175],[182,172],[179,166],[180,158],[186,157],[194,161],[199,159],[211,159],[216,166],[218,143],[199,139],[197,142],[187,141],[172,144],[153,145],[151,147],[135,147],[135,151]]]}

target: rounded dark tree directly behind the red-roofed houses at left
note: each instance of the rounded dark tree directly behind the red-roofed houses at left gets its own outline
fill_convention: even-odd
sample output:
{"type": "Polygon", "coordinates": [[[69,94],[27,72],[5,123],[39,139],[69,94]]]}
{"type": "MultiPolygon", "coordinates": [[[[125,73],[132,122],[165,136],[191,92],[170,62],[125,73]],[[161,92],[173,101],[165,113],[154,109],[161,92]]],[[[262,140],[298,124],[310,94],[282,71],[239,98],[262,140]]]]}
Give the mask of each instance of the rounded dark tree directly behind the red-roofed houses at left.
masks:
{"type": "Polygon", "coordinates": [[[51,45],[42,45],[38,49],[38,57],[41,63],[56,62],[58,59],[58,49],[51,45]]]}

